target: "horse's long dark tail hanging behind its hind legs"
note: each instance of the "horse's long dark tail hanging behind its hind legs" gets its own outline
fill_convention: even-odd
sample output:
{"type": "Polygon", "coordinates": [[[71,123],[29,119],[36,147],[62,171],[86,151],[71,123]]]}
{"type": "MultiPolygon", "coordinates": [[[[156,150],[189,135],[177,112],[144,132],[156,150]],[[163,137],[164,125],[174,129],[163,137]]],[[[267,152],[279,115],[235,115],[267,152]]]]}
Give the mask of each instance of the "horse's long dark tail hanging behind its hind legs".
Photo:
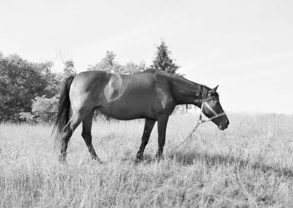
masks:
{"type": "Polygon", "coordinates": [[[62,131],[65,125],[69,121],[70,116],[70,99],[69,91],[74,76],[67,77],[63,83],[63,87],[60,92],[58,111],[56,116],[56,122],[54,124],[51,137],[54,138],[54,146],[58,147],[62,138],[62,131]]]}

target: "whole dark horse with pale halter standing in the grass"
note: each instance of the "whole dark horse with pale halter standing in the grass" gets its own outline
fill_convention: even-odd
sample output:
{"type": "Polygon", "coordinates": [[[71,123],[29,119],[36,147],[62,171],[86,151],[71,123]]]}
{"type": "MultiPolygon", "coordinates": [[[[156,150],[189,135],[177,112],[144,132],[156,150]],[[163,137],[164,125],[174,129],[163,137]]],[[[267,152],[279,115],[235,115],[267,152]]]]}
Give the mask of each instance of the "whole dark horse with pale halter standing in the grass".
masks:
{"type": "MultiPolygon", "coordinates": [[[[68,77],[60,94],[57,120],[52,132],[55,141],[61,142],[60,160],[65,160],[68,141],[83,122],[82,137],[85,144],[91,157],[100,161],[92,146],[94,110],[119,120],[146,118],[136,161],[142,159],[153,126],[158,121],[157,157],[160,159],[165,145],[168,118],[176,105],[193,104],[201,108],[205,102],[202,111],[207,117],[215,117],[215,113],[224,114],[216,92],[217,87],[210,89],[156,69],[147,69],[133,75],[85,71],[68,77]],[[70,104],[72,116],[69,119],[70,104]]],[[[212,122],[221,130],[229,125],[226,115],[215,117],[212,122]]]]}

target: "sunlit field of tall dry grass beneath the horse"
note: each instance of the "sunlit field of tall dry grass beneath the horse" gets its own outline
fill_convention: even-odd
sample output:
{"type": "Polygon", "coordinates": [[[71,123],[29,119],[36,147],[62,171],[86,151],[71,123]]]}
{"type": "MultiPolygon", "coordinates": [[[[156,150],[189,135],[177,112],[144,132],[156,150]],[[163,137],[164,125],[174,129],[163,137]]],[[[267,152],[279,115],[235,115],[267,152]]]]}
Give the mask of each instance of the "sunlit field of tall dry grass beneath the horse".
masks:
{"type": "Polygon", "coordinates": [[[134,158],[144,120],[93,125],[91,160],[79,127],[66,163],[58,162],[52,126],[0,124],[0,207],[3,208],[291,208],[293,116],[228,114],[229,128],[173,115],[164,160],[156,162],[157,128],[145,160],[134,158]]]}

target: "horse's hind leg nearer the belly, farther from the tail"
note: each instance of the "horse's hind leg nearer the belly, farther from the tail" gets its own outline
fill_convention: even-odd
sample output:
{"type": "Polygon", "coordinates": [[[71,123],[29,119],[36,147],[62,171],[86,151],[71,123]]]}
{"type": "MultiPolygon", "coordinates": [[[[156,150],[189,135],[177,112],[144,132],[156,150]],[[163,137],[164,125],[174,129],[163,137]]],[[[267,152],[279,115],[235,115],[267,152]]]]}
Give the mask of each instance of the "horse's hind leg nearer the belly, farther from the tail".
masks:
{"type": "Polygon", "coordinates": [[[84,138],[85,144],[88,148],[88,151],[92,159],[100,161],[92,145],[91,127],[93,123],[94,112],[95,110],[93,109],[87,116],[85,116],[83,120],[82,137],[84,138]]]}

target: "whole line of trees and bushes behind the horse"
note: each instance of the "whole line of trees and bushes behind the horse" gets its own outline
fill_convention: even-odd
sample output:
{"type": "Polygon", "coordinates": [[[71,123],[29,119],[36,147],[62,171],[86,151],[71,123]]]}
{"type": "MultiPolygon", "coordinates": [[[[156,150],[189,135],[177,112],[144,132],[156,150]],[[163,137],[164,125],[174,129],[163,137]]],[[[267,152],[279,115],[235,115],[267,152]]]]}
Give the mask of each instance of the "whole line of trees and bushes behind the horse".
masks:
{"type": "MultiPolygon", "coordinates": [[[[170,58],[171,52],[165,42],[157,46],[153,64],[129,62],[121,65],[115,61],[116,54],[106,51],[105,57],[87,70],[104,70],[121,74],[133,74],[154,68],[176,73],[180,68],[170,58]]],[[[17,54],[4,56],[0,52],[0,122],[27,121],[51,123],[55,120],[58,98],[63,80],[76,74],[73,60],[63,61],[62,72],[52,71],[53,62],[29,62],[17,54]]],[[[179,109],[182,111],[182,109],[179,109]]],[[[96,116],[101,116],[97,113],[96,116]]]]}

